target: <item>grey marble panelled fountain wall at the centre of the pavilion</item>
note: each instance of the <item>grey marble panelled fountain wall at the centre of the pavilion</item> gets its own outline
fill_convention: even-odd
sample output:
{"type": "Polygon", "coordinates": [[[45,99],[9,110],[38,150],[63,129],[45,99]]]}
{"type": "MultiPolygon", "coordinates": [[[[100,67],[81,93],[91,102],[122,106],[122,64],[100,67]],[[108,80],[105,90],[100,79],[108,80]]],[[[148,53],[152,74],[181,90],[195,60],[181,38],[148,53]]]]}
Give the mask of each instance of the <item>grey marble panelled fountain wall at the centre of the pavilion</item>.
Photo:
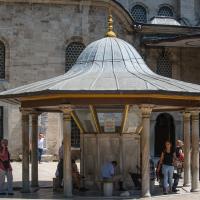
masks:
{"type": "Polygon", "coordinates": [[[81,149],[81,173],[86,177],[86,185],[98,184],[101,167],[113,160],[118,162],[116,173],[123,176],[126,186],[133,185],[129,172],[137,172],[136,165],[140,165],[138,134],[84,134],[81,149]]]}

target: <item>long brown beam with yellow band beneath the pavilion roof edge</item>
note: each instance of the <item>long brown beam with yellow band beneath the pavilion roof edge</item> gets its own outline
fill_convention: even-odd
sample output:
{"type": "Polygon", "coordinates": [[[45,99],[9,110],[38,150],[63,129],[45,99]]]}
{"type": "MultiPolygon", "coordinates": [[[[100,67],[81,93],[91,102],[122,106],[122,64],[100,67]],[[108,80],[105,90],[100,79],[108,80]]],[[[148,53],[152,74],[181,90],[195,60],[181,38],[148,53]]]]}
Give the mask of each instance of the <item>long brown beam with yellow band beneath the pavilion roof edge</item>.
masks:
{"type": "Polygon", "coordinates": [[[58,106],[63,104],[71,105],[127,105],[127,104],[154,104],[158,106],[181,106],[181,107],[200,107],[200,96],[197,95],[162,95],[162,94],[110,94],[110,95],[75,95],[72,97],[68,95],[58,95],[47,98],[41,97],[26,97],[26,99],[19,99],[21,107],[24,108],[39,108],[45,106],[58,106]],[[83,96],[82,96],[83,95],[83,96]]]}

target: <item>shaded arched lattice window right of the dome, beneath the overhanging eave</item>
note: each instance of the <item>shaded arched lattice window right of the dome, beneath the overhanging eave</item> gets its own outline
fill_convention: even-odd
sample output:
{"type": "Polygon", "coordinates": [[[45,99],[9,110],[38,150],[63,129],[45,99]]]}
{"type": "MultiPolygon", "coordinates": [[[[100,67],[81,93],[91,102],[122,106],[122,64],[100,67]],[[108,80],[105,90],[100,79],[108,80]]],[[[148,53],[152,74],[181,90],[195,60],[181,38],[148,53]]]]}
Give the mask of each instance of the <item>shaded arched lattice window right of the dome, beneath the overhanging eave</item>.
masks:
{"type": "Polygon", "coordinates": [[[165,52],[162,52],[158,57],[156,73],[161,76],[172,77],[172,64],[165,52]]]}

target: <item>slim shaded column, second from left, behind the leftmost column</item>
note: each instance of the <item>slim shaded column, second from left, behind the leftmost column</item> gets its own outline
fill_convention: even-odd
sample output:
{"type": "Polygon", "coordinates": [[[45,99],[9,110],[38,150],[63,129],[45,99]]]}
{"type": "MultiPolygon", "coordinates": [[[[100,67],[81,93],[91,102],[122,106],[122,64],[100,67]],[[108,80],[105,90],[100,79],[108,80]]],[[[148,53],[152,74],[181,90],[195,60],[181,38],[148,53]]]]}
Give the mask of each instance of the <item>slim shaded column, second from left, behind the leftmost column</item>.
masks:
{"type": "Polygon", "coordinates": [[[31,143],[31,186],[38,187],[38,113],[32,116],[32,143],[31,143]]]}

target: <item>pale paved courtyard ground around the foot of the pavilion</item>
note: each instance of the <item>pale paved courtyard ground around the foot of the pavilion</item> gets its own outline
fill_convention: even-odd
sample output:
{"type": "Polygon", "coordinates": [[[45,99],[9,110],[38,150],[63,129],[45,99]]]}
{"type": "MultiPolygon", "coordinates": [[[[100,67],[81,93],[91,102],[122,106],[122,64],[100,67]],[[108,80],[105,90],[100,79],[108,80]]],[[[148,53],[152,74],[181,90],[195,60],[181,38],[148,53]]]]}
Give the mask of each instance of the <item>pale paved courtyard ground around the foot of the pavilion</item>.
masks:
{"type": "MultiPolygon", "coordinates": [[[[79,166],[79,165],[78,165],[79,166]]],[[[14,188],[15,195],[2,196],[1,198],[6,199],[65,199],[62,192],[53,192],[52,189],[52,179],[55,177],[55,171],[57,167],[57,162],[43,162],[39,164],[39,181],[40,189],[33,189],[30,194],[22,194],[20,192],[21,188],[21,178],[22,178],[22,165],[21,162],[13,162],[13,178],[14,178],[14,188]]],[[[179,192],[177,194],[162,195],[161,188],[155,187],[153,196],[150,199],[172,199],[172,200],[200,200],[200,193],[190,193],[189,187],[181,187],[182,180],[180,181],[179,192]]],[[[78,192],[74,191],[73,199],[139,199],[139,191],[129,191],[131,197],[120,197],[120,194],[115,194],[112,198],[104,198],[102,194],[98,191],[88,191],[88,192],[78,192]]],[[[144,198],[143,198],[144,199],[144,198]]]]}

